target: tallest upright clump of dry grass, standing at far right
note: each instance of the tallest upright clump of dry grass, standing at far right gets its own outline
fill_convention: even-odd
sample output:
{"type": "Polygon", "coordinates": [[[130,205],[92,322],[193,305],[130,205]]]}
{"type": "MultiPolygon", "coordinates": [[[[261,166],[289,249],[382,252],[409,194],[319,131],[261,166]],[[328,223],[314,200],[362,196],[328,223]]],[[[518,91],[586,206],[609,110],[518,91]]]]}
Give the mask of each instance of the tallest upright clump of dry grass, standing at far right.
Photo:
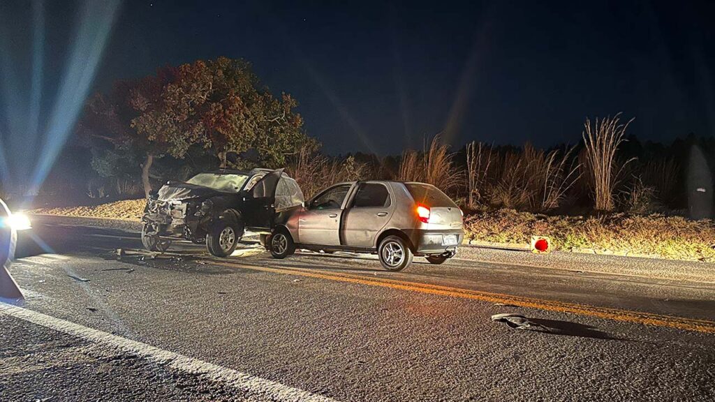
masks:
{"type": "Polygon", "coordinates": [[[594,207],[597,211],[613,210],[613,190],[618,182],[618,176],[631,160],[626,161],[617,167],[616,151],[618,146],[625,140],[626,128],[633,119],[626,124],[620,122],[621,114],[615,117],[606,117],[591,125],[591,120],[586,119],[583,124],[584,159],[586,161],[586,174],[588,184],[593,192],[594,207]]]}

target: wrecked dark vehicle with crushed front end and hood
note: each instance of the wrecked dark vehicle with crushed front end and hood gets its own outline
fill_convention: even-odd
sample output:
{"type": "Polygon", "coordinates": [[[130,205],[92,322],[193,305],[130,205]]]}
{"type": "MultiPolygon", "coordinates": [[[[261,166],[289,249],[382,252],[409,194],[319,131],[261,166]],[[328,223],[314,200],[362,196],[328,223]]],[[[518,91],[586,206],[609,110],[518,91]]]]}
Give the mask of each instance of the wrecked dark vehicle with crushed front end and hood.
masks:
{"type": "Polygon", "coordinates": [[[275,217],[300,207],[303,194],[282,169],[219,170],[167,182],[142,216],[142,244],[166,251],[174,239],[205,242],[212,255],[233,253],[245,230],[270,233],[275,217]]]}

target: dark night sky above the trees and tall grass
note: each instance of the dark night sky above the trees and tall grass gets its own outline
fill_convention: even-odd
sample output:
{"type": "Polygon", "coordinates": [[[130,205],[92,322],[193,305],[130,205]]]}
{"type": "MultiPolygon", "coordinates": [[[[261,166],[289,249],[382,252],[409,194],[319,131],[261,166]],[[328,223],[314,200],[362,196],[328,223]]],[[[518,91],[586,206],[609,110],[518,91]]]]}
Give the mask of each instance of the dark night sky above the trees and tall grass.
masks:
{"type": "MultiPolygon", "coordinates": [[[[94,89],[243,57],[333,154],[396,154],[445,129],[457,146],[575,143],[586,116],[620,111],[641,139],[714,134],[713,2],[345,3],[125,1],[94,89]]],[[[45,104],[79,19],[48,4],[45,104]]]]}

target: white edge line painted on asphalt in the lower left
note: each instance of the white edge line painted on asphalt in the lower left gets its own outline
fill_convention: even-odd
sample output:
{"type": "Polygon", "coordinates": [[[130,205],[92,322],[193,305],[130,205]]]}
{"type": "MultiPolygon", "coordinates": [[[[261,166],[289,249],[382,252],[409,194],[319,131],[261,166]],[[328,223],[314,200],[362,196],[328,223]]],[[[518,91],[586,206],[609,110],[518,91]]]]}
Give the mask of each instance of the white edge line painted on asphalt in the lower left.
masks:
{"type": "Polygon", "coordinates": [[[85,327],[76,323],[71,323],[50,315],[37,313],[33,310],[9,305],[0,302],[0,313],[10,315],[29,323],[41,325],[51,330],[76,336],[94,343],[111,345],[125,352],[134,353],[137,356],[146,358],[148,361],[158,363],[161,366],[174,368],[184,373],[199,374],[206,376],[212,381],[225,383],[228,386],[239,388],[250,396],[268,397],[277,401],[315,401],[315,402],[335,402],[331,398],[320,396],[298,388],[292,388],[282,383],[270,381],[265,378],[252,376],[247,373],[218,366],[196,358],[180,355],[169,350],[163,350],[147,343],[137,340],[123,338],[94,328],[85,327]]]}

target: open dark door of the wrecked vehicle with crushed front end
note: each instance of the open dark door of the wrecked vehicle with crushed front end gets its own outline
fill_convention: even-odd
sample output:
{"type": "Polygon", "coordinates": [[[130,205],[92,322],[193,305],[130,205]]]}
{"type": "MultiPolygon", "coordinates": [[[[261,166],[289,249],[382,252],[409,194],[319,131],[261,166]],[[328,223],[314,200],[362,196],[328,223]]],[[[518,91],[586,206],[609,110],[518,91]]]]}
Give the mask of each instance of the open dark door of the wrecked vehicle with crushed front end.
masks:
{"type": "Polygon", "coordinates": [[[268,172],[259,180],[245,198],[242,210],[246,227],[260,230],[270,230],[275,215],[275,190],[278,187],[282,169],[268,172]]]}

